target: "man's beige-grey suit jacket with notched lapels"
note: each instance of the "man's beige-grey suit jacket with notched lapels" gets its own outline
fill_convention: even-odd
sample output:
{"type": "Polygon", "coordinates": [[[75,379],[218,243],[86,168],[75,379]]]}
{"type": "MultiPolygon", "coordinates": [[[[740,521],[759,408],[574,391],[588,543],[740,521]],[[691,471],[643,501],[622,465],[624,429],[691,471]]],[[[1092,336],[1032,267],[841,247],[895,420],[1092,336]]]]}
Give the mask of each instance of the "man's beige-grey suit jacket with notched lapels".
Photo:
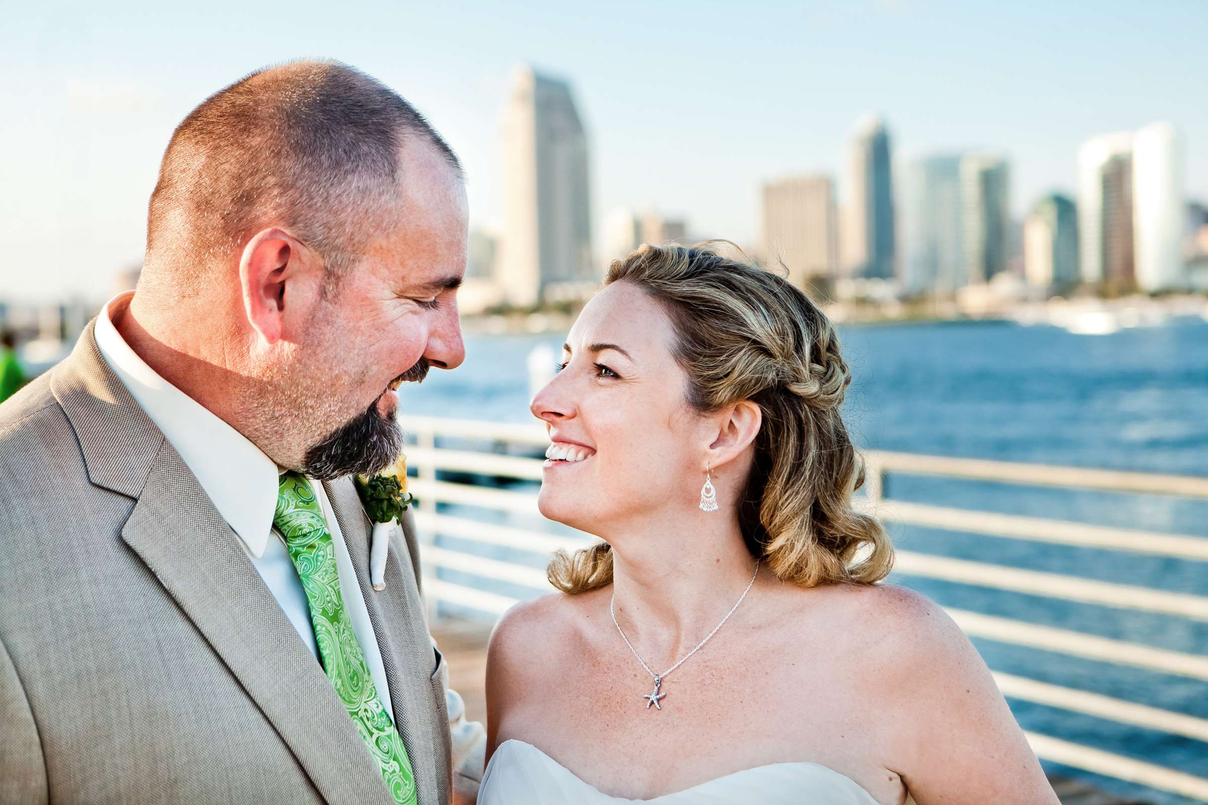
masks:
{"type": "MultiPolygon", "coordinates": [[[[447,670],[414,527],[376,593],[356,491],[325,489],[419,803],[442,805],[447,670]]],[[[480,777],[465,769],[459,789],[480,777]]],[[[323,667],[93,325],[0,406],[0,803],[391,803],[323,667]]]]}

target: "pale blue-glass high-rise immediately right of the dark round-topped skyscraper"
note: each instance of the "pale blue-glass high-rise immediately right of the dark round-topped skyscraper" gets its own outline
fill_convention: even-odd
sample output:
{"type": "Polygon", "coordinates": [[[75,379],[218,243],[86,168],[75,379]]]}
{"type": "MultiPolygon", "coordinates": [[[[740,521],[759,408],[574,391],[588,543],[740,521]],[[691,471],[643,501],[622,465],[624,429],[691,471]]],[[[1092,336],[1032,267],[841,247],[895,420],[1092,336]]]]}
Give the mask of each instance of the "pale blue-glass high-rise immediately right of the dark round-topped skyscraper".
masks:
{"type": "Polygon", "coordinates": [[[916,159],[906,173],[902,286],[952,293],[966,284],[960,157],[916,159]]]}

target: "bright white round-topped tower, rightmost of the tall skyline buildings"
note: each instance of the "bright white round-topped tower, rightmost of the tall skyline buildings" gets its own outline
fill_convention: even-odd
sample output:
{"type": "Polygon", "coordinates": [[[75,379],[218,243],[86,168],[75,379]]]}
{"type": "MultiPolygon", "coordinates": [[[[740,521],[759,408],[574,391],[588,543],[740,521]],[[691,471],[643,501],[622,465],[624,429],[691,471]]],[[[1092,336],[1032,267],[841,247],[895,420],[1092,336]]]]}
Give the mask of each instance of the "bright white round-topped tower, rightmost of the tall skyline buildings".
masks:
{"type": "Polygon", "coordinates": [[[1137,286],[1183,286],[1183,144],[1169,123],[1150,123],[1133,141],[1133,245],[1137,286]]]}

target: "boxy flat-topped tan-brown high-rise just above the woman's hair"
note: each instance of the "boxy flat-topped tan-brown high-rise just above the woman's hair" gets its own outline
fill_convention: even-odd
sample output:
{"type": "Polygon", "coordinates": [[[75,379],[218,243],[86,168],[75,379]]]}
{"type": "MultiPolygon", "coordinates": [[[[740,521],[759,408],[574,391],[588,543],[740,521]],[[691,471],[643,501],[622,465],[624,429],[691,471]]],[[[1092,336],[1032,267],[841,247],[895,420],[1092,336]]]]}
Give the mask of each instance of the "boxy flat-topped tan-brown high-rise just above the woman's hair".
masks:
{"type": "Polygon", "coordinates": [[[830,176],[791,176],[763,185],[763,258],[784,263],[805,287],[837,266],[835,182],[830,176]]]}

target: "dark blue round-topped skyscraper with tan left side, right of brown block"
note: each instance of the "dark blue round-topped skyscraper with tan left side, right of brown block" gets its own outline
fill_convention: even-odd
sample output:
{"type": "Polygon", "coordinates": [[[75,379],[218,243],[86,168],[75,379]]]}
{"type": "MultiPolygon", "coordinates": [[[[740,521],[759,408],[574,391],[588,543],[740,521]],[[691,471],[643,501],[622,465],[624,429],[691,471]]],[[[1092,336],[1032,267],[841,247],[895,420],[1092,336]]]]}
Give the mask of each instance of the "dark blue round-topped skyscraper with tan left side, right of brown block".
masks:
{"type": "Polygon", "coordinates": [[[884,121],[869,116],[848,146],[847,204],[840,253],[844,273],[895,274],[893,165],[884,121]]]}

